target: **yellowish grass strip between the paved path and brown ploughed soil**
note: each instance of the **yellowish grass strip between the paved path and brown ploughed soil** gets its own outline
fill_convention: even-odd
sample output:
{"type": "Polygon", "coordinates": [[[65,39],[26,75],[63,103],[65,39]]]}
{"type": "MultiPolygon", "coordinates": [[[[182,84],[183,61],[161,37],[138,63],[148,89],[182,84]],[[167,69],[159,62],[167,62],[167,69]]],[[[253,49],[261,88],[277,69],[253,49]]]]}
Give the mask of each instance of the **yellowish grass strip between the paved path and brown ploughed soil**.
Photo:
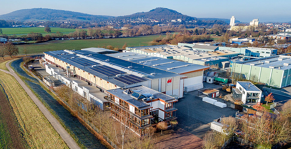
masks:
{"type": "Polygon", "coordinates": [[[13,76],[0,72],[0,83],[8,96],[29,148],[68,148],[13,76]]]}

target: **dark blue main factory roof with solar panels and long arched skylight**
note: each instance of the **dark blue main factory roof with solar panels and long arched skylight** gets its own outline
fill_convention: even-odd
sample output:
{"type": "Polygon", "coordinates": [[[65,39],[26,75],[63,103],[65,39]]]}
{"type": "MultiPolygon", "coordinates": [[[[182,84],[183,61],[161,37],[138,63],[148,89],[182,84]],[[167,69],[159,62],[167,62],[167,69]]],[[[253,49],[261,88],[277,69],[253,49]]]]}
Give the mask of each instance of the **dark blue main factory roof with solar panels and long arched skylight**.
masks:
{"type": "Polygon", "coordinates": [[[156,78],[177,77],[177,76],[183,77],[183,75],[166,71],[163,69],[156,69],[151,66],[141,65],[140,63],[132,63],[131,61],[126,61],[115,57],[109,57],[104,54],[99,54],[87,50],[75,50],[75,51],[60,50],[60,51],[49,51],[44,53],[52,57],[55,57],[59,60],[62,60],[65,63],[68,63],[79,69],[82,69],[90,74],[100,77],[104,80],[107,80],[108,82],[111,82],[120,87],[126,86],[126,84],[131,85],[156,78]],[[71,54],[70,58],[64,57],[65,55],[68,54],[71,54]],[[74,57],[73,55],[75,55],[76,57],[74,57]],[[129,66],[132,66],[132,68],[128,68],[129,66]],[[99,70],[101,69],[102,72],[97,69],[99,70]],[[154,72],[156,74],[151,75],[151,73],[154,72]],[[129,78],[137,77],[139,79],[138,81],[122,81],[120,77],[116,76],[119,74],[122,74],[125,77],[129,78]]]}

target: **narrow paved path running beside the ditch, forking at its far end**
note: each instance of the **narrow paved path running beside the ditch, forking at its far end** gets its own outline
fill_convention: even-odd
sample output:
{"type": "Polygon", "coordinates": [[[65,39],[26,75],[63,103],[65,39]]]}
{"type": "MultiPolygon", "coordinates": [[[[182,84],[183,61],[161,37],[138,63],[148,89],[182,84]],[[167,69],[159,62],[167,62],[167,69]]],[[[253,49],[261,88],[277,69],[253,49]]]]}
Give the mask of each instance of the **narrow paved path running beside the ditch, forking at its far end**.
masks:
{"type": "Polygon", "coordinates": [[[58,134],[61,136],[61,138],[64,140],[64,142],[67,144],[67,146],[71,149],[80,149],[80,147],[77,145],[75,140],[67,133],[67,131],[62,127],[62,125],[58,122],[57,119],[49,112],[49,110],[46,109],[46,107],[41,103],[41,101],[38,100],[38,98],[35,96],[35,94],[32,93],[32,91],[26,86],[26,84],[19,78],[19,76],[13,71],[13,69],[10,68],[9,64],[13,60],[10,60],[8,63],[6,63],[6,67],[9,70],[2,70],[0,71],[5,72],[7,74],[11,74],[18,83],[22,86],[22,88],[26,91],[26,93],[29,95],[29,97],[32,99],[32,101],[38,106],[39,110],[44,114],[44,116],[47,118],[47,120],[52,124],[52,127],[58,132],[58,134]]]}

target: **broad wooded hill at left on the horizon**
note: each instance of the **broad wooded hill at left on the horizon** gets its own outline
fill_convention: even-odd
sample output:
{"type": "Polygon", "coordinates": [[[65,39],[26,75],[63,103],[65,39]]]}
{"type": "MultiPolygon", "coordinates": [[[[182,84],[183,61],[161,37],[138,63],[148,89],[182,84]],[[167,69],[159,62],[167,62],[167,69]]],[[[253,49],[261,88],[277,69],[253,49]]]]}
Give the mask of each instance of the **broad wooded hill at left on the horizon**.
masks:
{"type": "Polygon", "coordinates": [[[0,19],[17,19],[17,20],[79,20],[79,21],[103,21],[113,16],[91,15],[67,10],[56,10],[47,8],[21,9],[11,13],[0,15],[0,19]]]}

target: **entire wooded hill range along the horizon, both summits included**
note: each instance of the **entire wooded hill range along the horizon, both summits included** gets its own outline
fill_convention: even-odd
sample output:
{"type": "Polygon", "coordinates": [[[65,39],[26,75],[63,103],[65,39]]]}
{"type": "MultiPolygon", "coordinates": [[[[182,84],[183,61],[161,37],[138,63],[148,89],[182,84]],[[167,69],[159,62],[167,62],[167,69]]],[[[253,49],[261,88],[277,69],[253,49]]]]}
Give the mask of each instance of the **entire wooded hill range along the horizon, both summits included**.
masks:
{"type": "MultiPolygon", "coordinates": [[[[110,20],[138,20],[138,19],[155,19],[162,22],[167,20],[177,20],[182,19],[182,21],[196,21],[203,20],[209,21],[224,21],[229,23],[229,19],[217,19],[217,18],[196,18],[192,16],[187,16],[176,10],[158,7],[152,9],[148,12],[138,12],[126,16],[102,16],[102,15],[91,15],[87,13],[79,13],[67,10],[56,10],[48,8],[32,8],[32,9],[21,9],[16,10],[11,13],[0,15],[0,19],[5,20],[24,20],[24,21],[89,21],[89,22],[102,22],[110,20]]],[[[236,20],[236,22],[239,22],[236,20]]]]}

